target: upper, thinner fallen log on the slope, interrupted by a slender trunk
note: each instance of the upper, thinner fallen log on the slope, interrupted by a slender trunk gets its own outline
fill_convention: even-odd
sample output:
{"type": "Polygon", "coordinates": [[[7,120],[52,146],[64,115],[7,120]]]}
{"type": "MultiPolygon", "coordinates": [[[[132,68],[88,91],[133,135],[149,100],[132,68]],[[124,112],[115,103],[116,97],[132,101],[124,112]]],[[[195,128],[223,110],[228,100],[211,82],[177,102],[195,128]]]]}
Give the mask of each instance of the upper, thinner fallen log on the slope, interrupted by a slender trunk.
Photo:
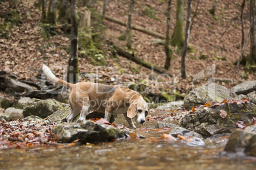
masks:
{"type": "MultiPolygon", "coordinates": [[[[123,26],[126,26],[126,25],[127,25],[127,23],[121,22],[121,21],[119,21],[119,20],[117,20],[117,19],[115,19],[115,18],[111,18],[111,17],[108,16],[108,15],[105,16],[105,19],[108,20],[108,21],[110,21],[110,22],[118,23],[119,25],[123,25],[123,26]]],[[[157,32],[153,32],[153,31],[151,31],[151,30],[146,30],[146,29],[144,29],[143,27],[139,27],[139,26],[136,26],[136,25],[132,25],[132,29],[138,30],[138,31],[140,31],[140,32],[143,32],[143,33],[148,34],[148,35],[153,36],[153,37],[158,37],[158,38],[160,38],[160,39],[166,39],[166,36],[164,36],[164,35],[162,35],[162,34],[159,34],[159,33],[157,33],[157,32]]]]}

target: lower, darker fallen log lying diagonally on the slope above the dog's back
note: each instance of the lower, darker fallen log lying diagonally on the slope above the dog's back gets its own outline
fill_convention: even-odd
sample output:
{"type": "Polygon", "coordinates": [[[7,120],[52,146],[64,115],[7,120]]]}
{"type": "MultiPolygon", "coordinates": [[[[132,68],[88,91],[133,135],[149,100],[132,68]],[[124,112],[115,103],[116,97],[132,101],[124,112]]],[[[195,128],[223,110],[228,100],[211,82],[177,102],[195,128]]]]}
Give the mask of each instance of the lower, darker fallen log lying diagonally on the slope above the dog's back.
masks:
{"type": "Polygon", "coordinates": [[[162,67],[159,67],[157,65],[153,65],[152,63],[150,62],[145,62],[143,60],[141,60],[140,58],[134,56],[134,55],[131,55],[130,53],[128,53],[127,51],[125,51],[124,49],[118,47],[117,45],[113,44],[113,42],[107,42],[108,44],[110,44],[111,46],[113,46],[113,48],[115,48],[115,51],[118,55],[120,56],[124,56],[125,58],[129,59],[129,60],[132,60],[132,62],[136,62],[138,63],[139,65],[142,65],[143,67],[146,67],[148,69],[153,69],[161,74],[167,74],[169,76],[172,77],[171,73],[168,72],[167,70],[163,69],[162,67]]]}

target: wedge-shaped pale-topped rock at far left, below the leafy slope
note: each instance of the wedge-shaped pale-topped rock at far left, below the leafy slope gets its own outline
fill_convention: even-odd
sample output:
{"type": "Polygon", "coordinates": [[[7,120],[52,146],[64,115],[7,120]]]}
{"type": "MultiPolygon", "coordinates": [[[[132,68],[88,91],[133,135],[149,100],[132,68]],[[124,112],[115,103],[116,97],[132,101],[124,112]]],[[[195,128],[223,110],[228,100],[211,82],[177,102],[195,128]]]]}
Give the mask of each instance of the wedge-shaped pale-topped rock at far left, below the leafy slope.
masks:
{"type": "Polygon", "coordinates": [[[24,82],[17,81],[16,79],[13,79],[13,77],[8,76],[5,78],[5,84],[6,84],[6,92],[13,93],[13,92],[25,92],[25,91],[33,91],[34,88],[32,86],[29,86],[28,84],[25,84],[24,82]]]}

